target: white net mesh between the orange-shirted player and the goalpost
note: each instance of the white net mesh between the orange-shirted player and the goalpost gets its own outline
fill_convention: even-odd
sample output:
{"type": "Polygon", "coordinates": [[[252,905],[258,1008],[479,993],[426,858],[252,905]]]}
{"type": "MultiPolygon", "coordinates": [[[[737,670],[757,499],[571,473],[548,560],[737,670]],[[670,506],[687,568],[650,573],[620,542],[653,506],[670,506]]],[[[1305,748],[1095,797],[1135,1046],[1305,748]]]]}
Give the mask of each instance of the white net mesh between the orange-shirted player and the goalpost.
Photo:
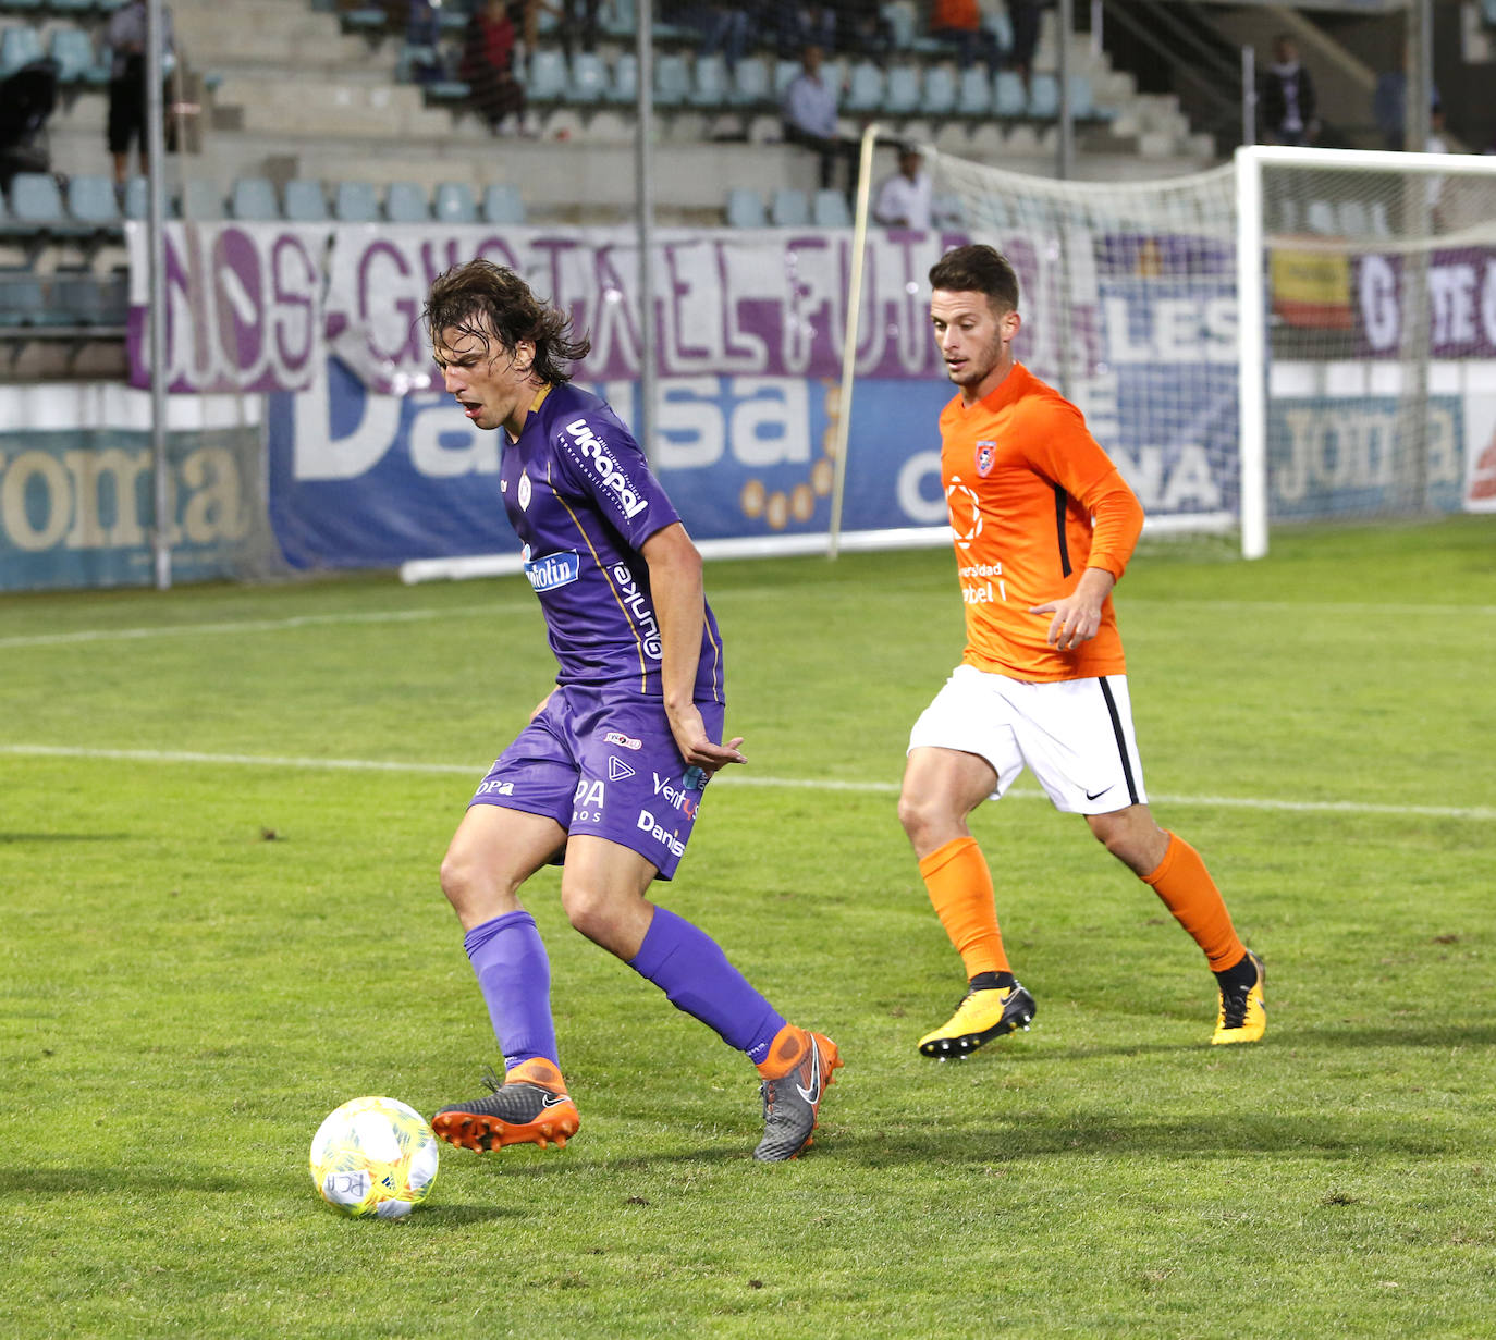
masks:
{"type": "Polygon", "coordinates": [[[1017,356],[1086,414],[1147,534],[1230,534],[1240,508],[1236,187],[1026,176],[931,153],[974,242],[1013,263],[1017,356]]]}

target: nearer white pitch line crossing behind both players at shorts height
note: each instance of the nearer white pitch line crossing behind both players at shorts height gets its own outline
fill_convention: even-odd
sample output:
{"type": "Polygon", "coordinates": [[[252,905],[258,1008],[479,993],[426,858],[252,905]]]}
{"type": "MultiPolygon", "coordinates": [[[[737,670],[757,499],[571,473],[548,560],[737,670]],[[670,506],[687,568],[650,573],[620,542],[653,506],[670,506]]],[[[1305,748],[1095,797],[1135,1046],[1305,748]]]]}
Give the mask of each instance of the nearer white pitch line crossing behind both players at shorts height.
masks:
{"type": "MultiPolygon", "coordinates": [[[[381,758],[296,758],[269,754],[202,754],[193,749],[93,749],[72,745],[0,745],[0,755],[16,758],[94,758],[121,763],[193,763],[212,767],[286,767],[325,772],[393,772],[393,773],[440,773],[470,776],[474,781],[483,775],[486,764],[471,763],[401,763],[381,758]]],[[[844,778],[766,778],[733,769],[721,773],[718,784],[733,787],[766,787],[802,791],[854,791],[863,794],[895,796],[899,784],[895,781],[848,781],[844,778]]],[[[1043,791],[1019,787],[1008,793],[1019,800],[1046,800],[1043,791]]],[[[1198,805],[1221,809],[1266,809],[1282,814],[1346,814],[1388,815],[1391,818],[1471,820],[1490,823],[1496,809],[1480,805],[1372,805],[1360,800],[1287,800],[1267,796],[1159,796],[1150,797],[1155,805],[1198,805]]]]}

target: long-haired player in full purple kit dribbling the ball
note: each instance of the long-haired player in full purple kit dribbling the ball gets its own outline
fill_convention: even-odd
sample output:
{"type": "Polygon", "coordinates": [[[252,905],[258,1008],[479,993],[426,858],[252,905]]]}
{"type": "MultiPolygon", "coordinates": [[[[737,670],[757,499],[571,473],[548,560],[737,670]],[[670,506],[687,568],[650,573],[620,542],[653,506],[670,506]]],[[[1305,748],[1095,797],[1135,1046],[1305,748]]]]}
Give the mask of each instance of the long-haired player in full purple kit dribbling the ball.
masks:
{"type": "Polygon", "coordinates": [[[423,320],[447,392],[479,428],[504,434],[500,492],[560,666],[441,863],[504,1075],[431,1125],[479,1150],[576,1134],[551,965],[518,897],[562,861],[571,926],[754,1062],[764,1117],[754,1158],[793,1159],[841,1065],[836,1044],[785,1023],[715,941],[645,897],[675,875],[712,773],[747,761],[741,739],[718,743],[723,645],[700,553],[628,429],[568,384],[565,365],[589,344],[565,313],[513,271],[473,260],[437,278],[423,320]]]}

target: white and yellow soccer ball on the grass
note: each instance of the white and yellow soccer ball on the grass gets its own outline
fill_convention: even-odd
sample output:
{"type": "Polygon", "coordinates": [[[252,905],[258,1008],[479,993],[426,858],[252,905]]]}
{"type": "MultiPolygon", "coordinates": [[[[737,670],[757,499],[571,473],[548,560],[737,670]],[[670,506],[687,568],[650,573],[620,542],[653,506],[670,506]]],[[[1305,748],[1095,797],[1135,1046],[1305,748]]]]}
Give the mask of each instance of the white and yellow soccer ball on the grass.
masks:
{"type": "Polygon", "coordinates": [[[437,1137],[393,1098],[355,1098],[311,1138],[311,1181],[343,1214],[404,1219],[437,1180],[437,1137]]]}

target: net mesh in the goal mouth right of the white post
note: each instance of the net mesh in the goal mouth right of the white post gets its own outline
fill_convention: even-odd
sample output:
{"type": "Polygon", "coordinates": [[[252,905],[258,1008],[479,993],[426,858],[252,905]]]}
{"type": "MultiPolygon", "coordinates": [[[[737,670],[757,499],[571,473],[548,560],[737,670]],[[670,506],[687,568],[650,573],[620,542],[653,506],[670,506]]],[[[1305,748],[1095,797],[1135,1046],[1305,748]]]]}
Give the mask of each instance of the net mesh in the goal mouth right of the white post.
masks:
{"type": "Polygon", "coordinates": [[[1272,522],[1496,505],[1496,162],[1261,169],[1272,522]]]}

